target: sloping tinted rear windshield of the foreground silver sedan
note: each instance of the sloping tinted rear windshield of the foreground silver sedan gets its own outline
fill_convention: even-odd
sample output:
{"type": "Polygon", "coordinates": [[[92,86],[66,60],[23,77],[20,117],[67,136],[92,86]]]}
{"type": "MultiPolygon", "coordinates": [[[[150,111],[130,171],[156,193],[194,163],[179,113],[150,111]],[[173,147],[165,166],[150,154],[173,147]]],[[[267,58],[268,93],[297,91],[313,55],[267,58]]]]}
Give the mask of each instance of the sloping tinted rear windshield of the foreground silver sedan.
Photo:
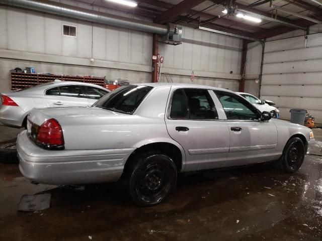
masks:
{"type": "Polygon", "coordinates": [[[122,86],[104,95],[93,106],[132,114],[152,88],[144,85],[122,86]]]}

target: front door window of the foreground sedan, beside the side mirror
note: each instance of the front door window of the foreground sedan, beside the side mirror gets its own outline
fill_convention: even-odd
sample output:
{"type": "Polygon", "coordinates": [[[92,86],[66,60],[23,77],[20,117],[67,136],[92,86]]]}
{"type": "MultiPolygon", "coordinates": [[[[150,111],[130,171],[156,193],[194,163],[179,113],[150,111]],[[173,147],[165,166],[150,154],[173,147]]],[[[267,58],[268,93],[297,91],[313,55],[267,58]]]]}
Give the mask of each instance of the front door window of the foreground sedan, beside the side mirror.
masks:
{"type": "Polygon", "coordinates": [[[214,90],[222,107],[226,113],[227,119],[258,119],[259,111],[250,102],[236,94],[214,90]]]}

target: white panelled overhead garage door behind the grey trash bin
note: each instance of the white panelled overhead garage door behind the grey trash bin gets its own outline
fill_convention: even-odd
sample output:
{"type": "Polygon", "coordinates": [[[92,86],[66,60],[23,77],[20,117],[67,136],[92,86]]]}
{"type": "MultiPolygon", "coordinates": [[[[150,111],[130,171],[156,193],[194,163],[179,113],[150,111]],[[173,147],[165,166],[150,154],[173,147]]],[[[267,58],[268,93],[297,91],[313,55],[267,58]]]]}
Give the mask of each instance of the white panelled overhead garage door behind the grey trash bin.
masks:
{"type": "Polygon", "coordinates": [[[265,45],[262,99],[290,119],[290,108],[307,109],[322,123],[322,34],[267,42],[265,45]]]}

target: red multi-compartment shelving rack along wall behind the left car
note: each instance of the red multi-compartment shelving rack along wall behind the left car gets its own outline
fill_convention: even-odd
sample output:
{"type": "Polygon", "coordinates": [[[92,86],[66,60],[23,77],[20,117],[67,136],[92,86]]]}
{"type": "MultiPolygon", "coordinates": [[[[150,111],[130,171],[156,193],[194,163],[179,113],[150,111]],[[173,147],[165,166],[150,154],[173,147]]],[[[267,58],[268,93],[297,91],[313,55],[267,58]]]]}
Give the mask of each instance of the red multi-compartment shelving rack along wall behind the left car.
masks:
{"type": "Polygon", "coordinates": [[[104,77],[90,76],[69,76],[54,74],[28,74],[28,73],[11,73],[11,89],[24,89],[38,84],[44,84],[55,79],[61,81],[78,81],[91,84],[97,84],[104,87],[104,77]]]}

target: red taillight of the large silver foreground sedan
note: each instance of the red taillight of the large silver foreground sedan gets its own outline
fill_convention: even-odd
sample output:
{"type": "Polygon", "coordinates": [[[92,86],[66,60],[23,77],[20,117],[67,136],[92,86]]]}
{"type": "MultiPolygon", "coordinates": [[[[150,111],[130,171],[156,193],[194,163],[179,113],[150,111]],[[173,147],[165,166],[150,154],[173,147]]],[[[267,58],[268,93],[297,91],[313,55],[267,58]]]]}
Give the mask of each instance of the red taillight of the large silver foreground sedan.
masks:
{"type": "Polygon", "coordinates": [[[62,129],[55,119],[48,119],[39,127],[36,144],[45,149],[64,149],[62,129]]]}

